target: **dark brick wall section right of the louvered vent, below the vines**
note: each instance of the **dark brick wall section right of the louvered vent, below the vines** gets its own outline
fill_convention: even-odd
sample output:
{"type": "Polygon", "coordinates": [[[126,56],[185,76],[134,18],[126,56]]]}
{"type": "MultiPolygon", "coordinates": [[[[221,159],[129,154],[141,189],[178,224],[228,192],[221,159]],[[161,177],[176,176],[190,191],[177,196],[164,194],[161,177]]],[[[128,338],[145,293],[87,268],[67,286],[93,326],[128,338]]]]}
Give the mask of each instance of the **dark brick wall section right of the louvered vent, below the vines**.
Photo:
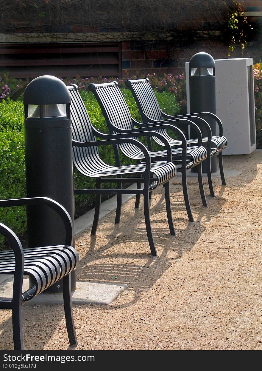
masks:
{"type": "Polygon", "coordinates": [[[198,31],[191,35],[188,40],[179,38],[163,42],[122,42],[122,75],[125,70],[132,74],[147,74],[151,72],[163,75],[164,73],[182,73],[185,70],[185,62],[198,52],[207,52],[214,59],[226,58],[253,58],[257,63],[262,60],[262,0],[239,1],[248,16],[254,30],[247,37],[247,45],[243,55],[239,45],[228,56],[228,47],[223,43],[219,35],[209,36],[208,33],[198,31]]]}

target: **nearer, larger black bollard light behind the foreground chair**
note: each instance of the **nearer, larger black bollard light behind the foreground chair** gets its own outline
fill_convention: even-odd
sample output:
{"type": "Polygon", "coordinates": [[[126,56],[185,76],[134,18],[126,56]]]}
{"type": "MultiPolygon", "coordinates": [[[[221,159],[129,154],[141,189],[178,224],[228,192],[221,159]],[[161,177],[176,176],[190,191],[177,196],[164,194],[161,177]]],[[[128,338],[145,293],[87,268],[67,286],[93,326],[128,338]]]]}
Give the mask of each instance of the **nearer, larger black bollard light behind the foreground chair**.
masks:
{"type": "MultiPolygon", "coordinates": [[[[32,80],[24,92],[24,116],[27,197],[53,198],[74,224],[70,94],[63,81],[54,76],[32,80]]],[[[28,247],[64,244],[64,224],[47,206],[27,208],[27,233],[28,247]]],[[[63,291],[62,280],[47,291],[63,291]]]]}

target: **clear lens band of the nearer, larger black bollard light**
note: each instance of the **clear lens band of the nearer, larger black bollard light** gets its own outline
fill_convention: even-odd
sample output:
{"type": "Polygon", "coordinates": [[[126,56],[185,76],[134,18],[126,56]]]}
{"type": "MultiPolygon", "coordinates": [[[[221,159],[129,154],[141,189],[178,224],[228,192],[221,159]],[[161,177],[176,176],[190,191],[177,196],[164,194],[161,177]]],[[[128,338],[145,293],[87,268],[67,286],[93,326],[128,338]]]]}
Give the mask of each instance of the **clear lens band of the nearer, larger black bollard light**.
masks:
{"type": "Polygon", "coordinates": [[[66,117],[66,104],[28,104],[28,117],[66,117]]]}

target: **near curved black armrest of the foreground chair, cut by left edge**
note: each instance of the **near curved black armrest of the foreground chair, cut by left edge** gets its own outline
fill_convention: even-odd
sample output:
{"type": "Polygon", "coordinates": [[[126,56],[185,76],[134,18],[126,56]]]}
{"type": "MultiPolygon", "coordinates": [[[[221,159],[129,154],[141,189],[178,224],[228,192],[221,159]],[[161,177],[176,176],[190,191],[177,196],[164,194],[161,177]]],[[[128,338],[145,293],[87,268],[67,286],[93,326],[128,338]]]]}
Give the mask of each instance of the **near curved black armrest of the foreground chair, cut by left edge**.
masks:
{"type": "MultiPolygon", "coordinates": [[[[14,268],[14,282],[13,282],[13,299],[16,298],[21,304],[22,301],[22,286],[24,273],[24,251],[21,242],[17,235],[5,224],[0,223],[0,233],[6,237],[11,249],[14,251],[15,268],[14,268]]],[[[10,301],[1,301],[1,308],[10,308],[10,301]]]]}

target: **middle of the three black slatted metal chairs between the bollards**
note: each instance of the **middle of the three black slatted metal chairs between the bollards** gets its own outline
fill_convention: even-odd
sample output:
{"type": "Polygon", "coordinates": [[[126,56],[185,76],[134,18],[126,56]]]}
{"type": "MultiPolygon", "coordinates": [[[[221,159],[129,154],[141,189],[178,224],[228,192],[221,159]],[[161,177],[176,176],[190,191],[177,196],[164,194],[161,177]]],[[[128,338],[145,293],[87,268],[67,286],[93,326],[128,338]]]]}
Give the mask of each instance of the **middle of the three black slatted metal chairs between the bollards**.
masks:
{"type": "MultiPolygon", "coordinates": [[[[163,145],[163,135],[162,129],[171,129],[178,135],[179,141],[181,143],[181,148],[172,149],[172,162],[176,165],[177,171],[181,172],[182,175],[182,187],[184,193],[185,206],[187,209],[189,221],[194,221],[192,210],[188,197],[187,189],[187,169],[197,166],[198,169],[198,184],[201,194],[202,203],[207,207],[203,180],[202,180],[202,161],[207,157],[207,150],[202,146],[202,135],[198,126],[189,119],[181,119],[181,122],[185,122],[186,125],[190,125],[196,131],[198,135],[197,145],[194,147],[187,147],[187,142],[182,131],[175,127],[174,125],[167,125],[167,123],[160,123],[159,125],[146,125],[141,124],[140,122],[135,121],[128,109],[127,103],[125,102],[124,96],[122,95],[118,83],[116,81],[102,84],[90,84],[88,89],[92,91],[95,95],[95,98],[100,105],[101,111],[105,116],[108,129],[111,134],[118,133],[132,133],[132,131],[139,130],[153,130],[152,134],[147,134],[147,137],[153,137],[159,144],[163,145]],[[143,129],[141,126],[143,125],[143,129]],[[167,125],[167,126],[166,126],[167,125]],[[135,127],[138,127],[138,129],[135,127]],[[160,130],[160,132],[159,132],[160,130]],[[158,137],[156,133],[161,134],[161,137],[158,137]]],[[[204,120],[203,120],[204,121],[204,120]]],[[[165,138],[168,141],[167,138],[165,138]]],[[[150,144],[150,141],[149,141],[150,144]]],[[[143,161],[144,156],[142,152],[135,148],[132,144],[119,144],[120,150],[130,158],[133,158],[137,161],[143,161]]],[[[151,149],[151,148],[150,148],[151,149]]],[[[166,151],[149,151],[150,157],[153,161],[161,159],[166,155],[166,151]]],[[[139,196],[137,196],[135,207],[139,206],[139,196]]]]}

